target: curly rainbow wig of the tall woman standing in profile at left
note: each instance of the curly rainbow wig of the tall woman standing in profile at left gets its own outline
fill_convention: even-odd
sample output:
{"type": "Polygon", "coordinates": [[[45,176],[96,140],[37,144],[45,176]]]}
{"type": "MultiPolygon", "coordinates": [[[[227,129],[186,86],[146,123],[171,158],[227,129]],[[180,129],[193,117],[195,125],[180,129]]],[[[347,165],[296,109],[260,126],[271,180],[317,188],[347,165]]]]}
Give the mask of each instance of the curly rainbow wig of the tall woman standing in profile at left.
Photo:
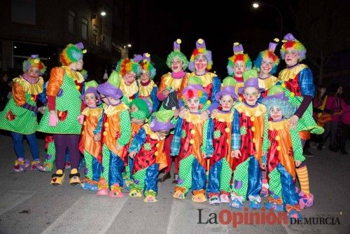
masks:
{"type": "Polygon", "coordinates": [[[81,42],[76,43],[75,45],[68,44],[59,55],[59,61],[61,61],[64,66],[68,66],[72,62],[78,62],[82,59],[86,51],[87,50],[84,50],[84,45],[81,42]]]}

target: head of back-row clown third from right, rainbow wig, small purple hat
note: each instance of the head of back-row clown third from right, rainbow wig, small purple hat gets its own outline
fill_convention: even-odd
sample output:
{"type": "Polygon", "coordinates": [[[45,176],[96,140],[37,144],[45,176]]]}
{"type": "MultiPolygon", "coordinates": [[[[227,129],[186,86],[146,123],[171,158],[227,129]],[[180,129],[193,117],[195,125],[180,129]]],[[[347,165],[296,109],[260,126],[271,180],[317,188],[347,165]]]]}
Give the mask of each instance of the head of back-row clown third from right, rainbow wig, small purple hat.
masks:
{"type": "MultiPolygon", "coordinates": [[[[251,58],[244,53],[243,45],[233,43],[233,55],[228,58],[228,75],[235,79],[235,92],[238,93],[238,88],[244,86],[243,74],[244,71],[251,69],[251,58]]],[[[243,99],[243,96],[240,96],[243,99]]]]}

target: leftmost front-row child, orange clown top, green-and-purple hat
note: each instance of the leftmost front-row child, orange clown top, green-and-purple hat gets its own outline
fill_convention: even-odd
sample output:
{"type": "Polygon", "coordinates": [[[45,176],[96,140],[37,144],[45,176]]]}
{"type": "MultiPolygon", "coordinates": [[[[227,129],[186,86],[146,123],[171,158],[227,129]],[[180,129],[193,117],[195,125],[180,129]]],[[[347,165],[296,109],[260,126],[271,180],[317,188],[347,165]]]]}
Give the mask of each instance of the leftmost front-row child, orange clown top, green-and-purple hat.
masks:
{"type": "Polygon", "coordinates": [[[98,106],[101,104],[101,98],[97,93],[96,81],[85,83],[85,92],[80,96],[80,99],[87,106],[81,112],[83,118],[80,118],[83,129],[80,135],[79,148],[85,160],[85,179],[80,184],[80,187],[90,191],[97,191],[102,168],[101,163],[99,163],[101,142],[94,140],[94,129],[102,116],[102,108],[98,106]]]}

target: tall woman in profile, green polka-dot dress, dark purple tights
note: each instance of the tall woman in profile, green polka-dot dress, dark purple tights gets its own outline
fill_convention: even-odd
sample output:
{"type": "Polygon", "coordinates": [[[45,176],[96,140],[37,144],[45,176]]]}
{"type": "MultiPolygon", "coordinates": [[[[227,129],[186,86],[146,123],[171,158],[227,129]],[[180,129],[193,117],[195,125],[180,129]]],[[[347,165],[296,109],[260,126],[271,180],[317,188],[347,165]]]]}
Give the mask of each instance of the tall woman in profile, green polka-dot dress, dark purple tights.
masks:
{"type": "Polygon", "coordinates": [[[82,109],[80,92],[84,78],[78,72],[83,69],[83,43],[69,44],[62,50],[59,60],[62,67],[51,70],[46,95],[48,109],[41,118],[38,131],[53,134],[55,141],[57,171],[52,174],[51,184],[62,185],[66,149],[71,156],[70,184],[80,184],[78,149],[81,125],[78,120],[82,109]]]}

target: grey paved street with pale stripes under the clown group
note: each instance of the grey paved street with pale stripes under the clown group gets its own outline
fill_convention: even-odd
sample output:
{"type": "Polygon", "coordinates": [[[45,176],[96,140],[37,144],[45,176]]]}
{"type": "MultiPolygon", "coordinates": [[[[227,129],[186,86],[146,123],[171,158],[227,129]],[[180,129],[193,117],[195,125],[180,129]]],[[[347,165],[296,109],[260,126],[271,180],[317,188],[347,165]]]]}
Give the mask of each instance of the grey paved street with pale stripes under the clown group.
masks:
{"type": "MultiPolygon", "coordinates": [[[[43,141],[39,144],[43,158],[43,141]]],[[[333,220],[335,225],[255,222],[236,228],[232,221],[219,224],[219,213],[223,209],[237,210],[227,204],[196,204],[190,196],[174,200],[171,180],[159,184],[158,202],[154,204],[130,198],[127,193],[124,198],[99,197],[79,186],[70,186],[68,174],[63,186],[54,187],[49,183],[51,174],[13,172],[15,153],[10,137],[0,137],[0,151],[0,233],[350,233],[350,155],[340,156],[326,149],[311,149],[316,156],[307,158],[315,203],[302,210],[302,215],[318,217],[315,220],[330,218],[325,220],[333,220]],[[218,224],[211,213],[217,214],[218,224]],[[207,223],[210,218],[212,224],[207,223]]],[[[28,147],[26,152],[29,156],[28,147]]]]}

